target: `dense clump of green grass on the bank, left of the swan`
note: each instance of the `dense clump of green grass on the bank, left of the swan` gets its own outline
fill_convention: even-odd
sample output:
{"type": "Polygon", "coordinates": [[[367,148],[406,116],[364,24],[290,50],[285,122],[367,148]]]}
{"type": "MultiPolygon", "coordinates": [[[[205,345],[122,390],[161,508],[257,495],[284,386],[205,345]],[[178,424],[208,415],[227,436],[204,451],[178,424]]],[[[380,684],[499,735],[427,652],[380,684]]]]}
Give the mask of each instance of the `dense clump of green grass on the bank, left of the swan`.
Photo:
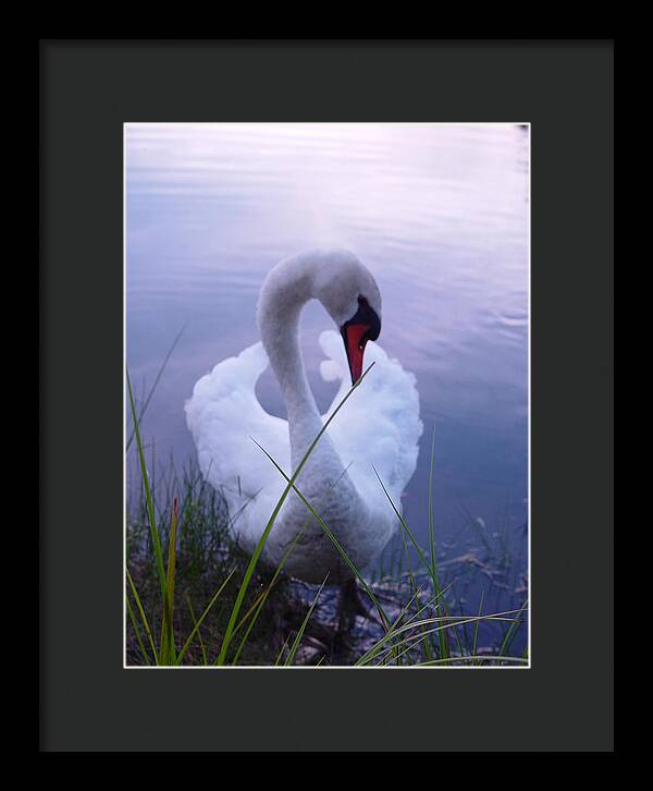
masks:
{"type": "MultiPolygon", "coordinates": [[[[162,605],[156,549],[149,531],[145,497],[141,496],[139,501],[132,503],[128,511],[125,593],[127,665],[213,664],[249,563],[249,557],[232,538],[223,498],[204,484],[198,470],[189,464],[175,490],[181,492],[176,504],[176,528],[173,530],[173,495],[170,496],[170,503],[162,507],[161,513],[157,511],[157,530],[162,546],[168,548],[165,559],[171,557],[171,548],[174,546],[171,539],[174,538],[176,543],[174,582],[170,596],[172,611],[170,606],[165,610],[162,605]],[[151,633],[151,641],[138,603],[151,633]],[[130,616],[130,609],[134,617],[130,616]],[[172,645],[167,645],[170,637],[172,645]],[[189,637],[190,642],[182,655],[189,637]]],[[[164,500],[168,499],[167,492],[164,500]]],[[[287,577],[278,575],[274,579],[273,571],[260,567],[252,575],[244,597],[244,617],[252,608],[256,610],[267,592],[273,593],[273,596],[269,606],[261,610],[256,629],[251,630],[250,640],[243,646],[238,658],[241,664],[268,664],[269,657],[280,650],[287,636],[285,628],[299,618],[303,610],[287,577]]],[[[236,632],[236,638],[244,633],[247,625],[246,621],[236,632]]],[[[234,653],[235,648],[232,654],[234,653]]]]}

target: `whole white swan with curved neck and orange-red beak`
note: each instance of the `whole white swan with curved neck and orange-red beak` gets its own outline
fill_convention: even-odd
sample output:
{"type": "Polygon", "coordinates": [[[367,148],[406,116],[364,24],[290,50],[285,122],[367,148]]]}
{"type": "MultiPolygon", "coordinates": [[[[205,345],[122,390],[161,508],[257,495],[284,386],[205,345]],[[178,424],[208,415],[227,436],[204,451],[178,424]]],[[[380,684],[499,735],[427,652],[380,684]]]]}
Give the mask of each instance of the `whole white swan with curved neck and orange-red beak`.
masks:
{"type": "MultiPolygon", "coordinates": [[[[372,465],[399,508],[402,491],[415,472],[422,431],[414,375],[373,342],[381,329],[377,283],[346,251],[286,258],[261,287],[258,324],[262,343],[219,363],[197,381],[186,402],[202,475],[224,494],[233,531],[251,551],[286,485],[252,439],[286,474],[294,472],[323,421],[360,377],[365,351],[366,366],[375,365],[334,417],[296,480],[361,569],[398,525],[372,465]],[[329,357],[321,364],[322,377],[342,379],[324,416],[316,405],[299,349],[299,317],[311,299],[322,303],[342,334],[328,330],[320,336],[329,357]],[[268,362],[281,385],[287,422],[266,412],[255,392],[268,362]]],[[[303,528],[285,571],[312,583],[322,582],[328,573],[329,584],[349,581],[341,556],[294,491],[272,527],[263,560],[276,567],[303,528]]]]}

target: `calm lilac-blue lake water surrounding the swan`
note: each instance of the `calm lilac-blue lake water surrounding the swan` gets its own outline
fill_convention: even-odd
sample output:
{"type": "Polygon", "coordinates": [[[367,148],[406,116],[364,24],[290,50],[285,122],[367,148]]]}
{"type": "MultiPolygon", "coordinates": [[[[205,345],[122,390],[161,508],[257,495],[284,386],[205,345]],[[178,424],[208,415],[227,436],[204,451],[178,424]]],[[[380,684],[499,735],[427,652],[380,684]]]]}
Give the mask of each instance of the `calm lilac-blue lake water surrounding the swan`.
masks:
{"type": "MultiPolygon", "coordinates": [[[[194,453],[184,400],[224,357],[259,340],[256,301],[281,258],[343,246],[383,296],[380,344],[418,382],[424,434],[405,497],[428,540],[435,430],[439,559],[470,610],[525,597],[528,512],[528,130],[516,125],[128,124],[126,350],[147,392],[184,331],[143,423],[156,473],[194,453]],[[466,561],[456,560],[469,555],[466,561]],[[509,568],[503,559],[509,557],[509,568]],[[472,573],[475,572],[475,573],[472,573]]],[[[325,410],[310,304],[309,379],[325,410]]],[[[259,384],[283,415],[276,382],[259,384]]],[[[127,465],[128,486],[137,480],[127,465]]]]}

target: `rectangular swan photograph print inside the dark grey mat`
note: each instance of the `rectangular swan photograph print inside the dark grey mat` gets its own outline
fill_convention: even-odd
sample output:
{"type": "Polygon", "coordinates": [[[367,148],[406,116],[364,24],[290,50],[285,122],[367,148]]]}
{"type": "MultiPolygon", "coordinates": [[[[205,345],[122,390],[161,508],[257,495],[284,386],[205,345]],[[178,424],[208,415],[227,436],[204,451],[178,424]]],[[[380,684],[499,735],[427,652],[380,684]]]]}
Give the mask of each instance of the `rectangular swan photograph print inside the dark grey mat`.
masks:
{"type": "Polygon", "coordinates": [[[124,666],[528,669],[529,282],[526,122],[125,123],[124,666]]]}

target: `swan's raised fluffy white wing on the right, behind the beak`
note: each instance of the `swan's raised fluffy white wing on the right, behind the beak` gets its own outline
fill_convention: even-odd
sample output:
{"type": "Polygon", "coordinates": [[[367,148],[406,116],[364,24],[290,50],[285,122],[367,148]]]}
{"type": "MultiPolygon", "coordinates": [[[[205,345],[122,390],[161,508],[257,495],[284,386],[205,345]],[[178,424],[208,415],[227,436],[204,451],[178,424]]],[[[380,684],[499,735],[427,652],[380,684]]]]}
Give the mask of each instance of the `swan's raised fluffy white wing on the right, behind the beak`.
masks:
{"type": "MultiPolygon", "coordinates": [[[[328,356],[320,365],[322,378],[341,379],[326,416],[350,388],[349,368],[342,338],[334,330],[320,336],[320,346],[328,356]]],[[[399,497],[417,464],[418,440],[422,433],[419,394],[412,374],[391,360],[383,349],[370,341],[365,350],[365,367],[374,367],[329,426],[329,434],[349,476],[370,506],[390,504],[372,468],[377,468],[397,507],[399,497]]]]}

